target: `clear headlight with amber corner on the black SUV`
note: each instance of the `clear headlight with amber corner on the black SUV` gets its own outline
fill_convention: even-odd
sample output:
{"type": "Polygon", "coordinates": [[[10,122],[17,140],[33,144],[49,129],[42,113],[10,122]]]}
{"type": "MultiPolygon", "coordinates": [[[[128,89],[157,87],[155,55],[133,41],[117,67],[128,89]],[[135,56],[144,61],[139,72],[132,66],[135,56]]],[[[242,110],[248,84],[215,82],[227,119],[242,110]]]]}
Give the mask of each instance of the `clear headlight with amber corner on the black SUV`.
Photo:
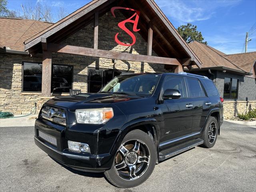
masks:
{"type": "Polygon", "coordinates": [[[112,108],[78,109],[76,110],[76,122],[86,124],[102,124],[114,116],[112,108]]]}

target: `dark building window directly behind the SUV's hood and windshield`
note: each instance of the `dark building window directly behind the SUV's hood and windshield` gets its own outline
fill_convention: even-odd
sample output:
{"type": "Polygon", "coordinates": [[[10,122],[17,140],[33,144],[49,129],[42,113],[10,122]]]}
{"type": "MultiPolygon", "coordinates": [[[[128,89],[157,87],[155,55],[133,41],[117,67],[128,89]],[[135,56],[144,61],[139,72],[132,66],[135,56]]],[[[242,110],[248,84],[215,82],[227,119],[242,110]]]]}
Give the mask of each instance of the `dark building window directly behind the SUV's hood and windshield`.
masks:
{"type": "Polygon", "coordinates": [[[97,93],[114,77],[121,74],[130,74],[132,72],[124,72],[113,69],[88,69],[88,93],[97,93]]]}

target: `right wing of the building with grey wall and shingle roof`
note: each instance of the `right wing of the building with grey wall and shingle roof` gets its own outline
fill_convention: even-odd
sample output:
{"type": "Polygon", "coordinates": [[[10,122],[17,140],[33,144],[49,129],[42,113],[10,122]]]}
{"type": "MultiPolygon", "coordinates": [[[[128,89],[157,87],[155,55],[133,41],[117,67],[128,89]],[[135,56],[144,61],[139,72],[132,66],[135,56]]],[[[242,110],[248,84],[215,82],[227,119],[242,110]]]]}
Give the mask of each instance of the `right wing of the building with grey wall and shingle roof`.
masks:
{"type": "Polygon", "coordinates": [[[202,61],[202,67],[185,71],[214,81],[224,98],[225,117],[256,108],[256,52],[227,55],[202,43],[188,45],[202,61]]]}

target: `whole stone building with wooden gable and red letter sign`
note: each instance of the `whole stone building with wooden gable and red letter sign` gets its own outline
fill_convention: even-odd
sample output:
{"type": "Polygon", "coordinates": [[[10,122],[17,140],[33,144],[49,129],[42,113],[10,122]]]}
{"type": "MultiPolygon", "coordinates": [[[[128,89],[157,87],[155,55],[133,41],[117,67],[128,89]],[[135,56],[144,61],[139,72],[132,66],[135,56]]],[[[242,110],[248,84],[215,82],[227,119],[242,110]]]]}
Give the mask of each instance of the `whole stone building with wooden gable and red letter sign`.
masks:
{"type": "Polygon", "coordinates": [[[0,18],[0,26],[0,111],[29,114],[36,105],[38,112],[49,98],[70,89],[97,92],[120,74],[183,69],[212,78],[224,98],[226,78],[231,84],[237,79],[236,98],[225,98],[225,116],[256,108],[255,52],[234,56],[238,66],[232,55],[209,46],[213,53],[201,51],[204,45],[196,42],[188,46],[153,0],[94,0],[55,24],[0,18]],[[223,58],[209,62],[217,57],[223,58]],[[215,63],[223,68],[210,68],[215,63]]]}

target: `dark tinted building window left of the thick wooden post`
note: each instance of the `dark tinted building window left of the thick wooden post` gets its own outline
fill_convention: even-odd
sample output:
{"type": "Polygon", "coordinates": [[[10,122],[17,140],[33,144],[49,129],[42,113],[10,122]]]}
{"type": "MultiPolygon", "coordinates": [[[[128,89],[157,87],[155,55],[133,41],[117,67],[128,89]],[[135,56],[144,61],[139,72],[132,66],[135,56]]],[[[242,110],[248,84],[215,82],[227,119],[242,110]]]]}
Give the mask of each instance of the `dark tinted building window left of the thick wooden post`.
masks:
{"type": "Polygon", "coordinates": [[[24,63],[23,91],[40,92],[42,90],[42,64],[24,63]]]}

